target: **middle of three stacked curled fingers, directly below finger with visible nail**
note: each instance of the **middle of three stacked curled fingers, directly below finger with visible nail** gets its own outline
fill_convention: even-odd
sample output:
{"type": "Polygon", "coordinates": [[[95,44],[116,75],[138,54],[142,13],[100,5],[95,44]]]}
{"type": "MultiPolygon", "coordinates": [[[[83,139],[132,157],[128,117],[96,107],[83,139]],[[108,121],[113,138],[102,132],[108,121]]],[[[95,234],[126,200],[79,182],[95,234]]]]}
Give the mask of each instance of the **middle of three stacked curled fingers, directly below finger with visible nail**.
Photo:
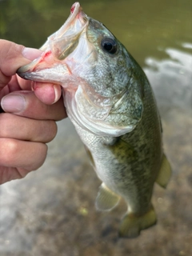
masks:
{"type": "Polygon", "coordinates": [[[31,142],[50,142],[57,134],[51,120],[23,118],[15,114],[0,114],[0,138],[15,138],[31,142]]]}

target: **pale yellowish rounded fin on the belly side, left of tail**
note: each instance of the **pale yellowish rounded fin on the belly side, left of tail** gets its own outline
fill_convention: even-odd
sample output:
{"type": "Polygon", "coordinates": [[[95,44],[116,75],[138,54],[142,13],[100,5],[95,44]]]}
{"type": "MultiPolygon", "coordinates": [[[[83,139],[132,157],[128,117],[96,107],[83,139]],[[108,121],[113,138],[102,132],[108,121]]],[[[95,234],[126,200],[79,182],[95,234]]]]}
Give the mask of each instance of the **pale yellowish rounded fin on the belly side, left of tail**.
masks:
{"type": "Polygon", "coordinates": [[[120,197],[110,190],[105,183],[99,187],[95,206],[98,210],[112,210],[118,205],[120,197]]]}

